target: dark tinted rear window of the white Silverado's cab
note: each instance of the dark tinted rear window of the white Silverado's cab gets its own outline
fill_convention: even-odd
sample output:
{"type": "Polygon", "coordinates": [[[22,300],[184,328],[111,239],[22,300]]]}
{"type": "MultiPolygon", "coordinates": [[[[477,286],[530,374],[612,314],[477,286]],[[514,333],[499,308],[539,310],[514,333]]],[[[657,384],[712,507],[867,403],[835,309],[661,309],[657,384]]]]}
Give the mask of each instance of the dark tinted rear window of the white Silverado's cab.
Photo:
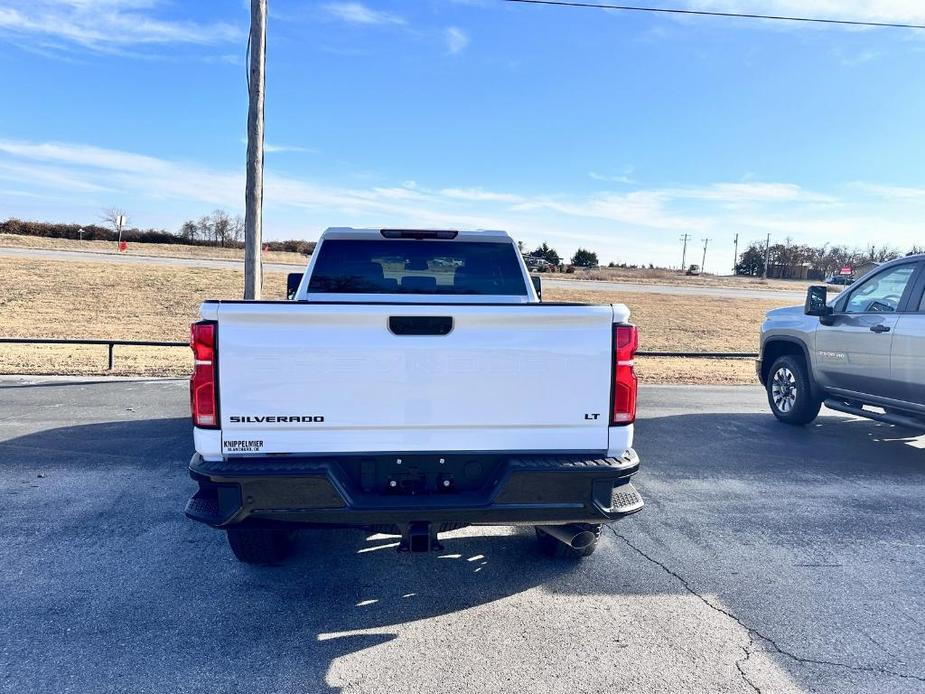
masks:
{"type": "Polygon", "coordinates": [[[309,292],[527,294],[512,243],[330,239],[317,252],[309,292]]]}

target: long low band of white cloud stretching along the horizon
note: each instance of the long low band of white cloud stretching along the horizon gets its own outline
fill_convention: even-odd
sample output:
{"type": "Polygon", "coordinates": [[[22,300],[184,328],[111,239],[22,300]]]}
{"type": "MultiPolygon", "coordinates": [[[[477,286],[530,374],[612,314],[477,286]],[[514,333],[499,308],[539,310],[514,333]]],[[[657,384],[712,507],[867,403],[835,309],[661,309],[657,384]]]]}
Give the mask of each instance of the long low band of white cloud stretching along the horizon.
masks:
{"type": "MultiPolygon", "coordinates": [[[[61,142],[0,140],[0,181],[20,192],[5,200],[6,214],[49,218],[58,210],[73,220],[118,204],[133,210],[139,223],[167,228],[204,209],[238,212],[244,197],[238,169],[61,142]],[[49,200],[54,206],[46,205],[49,200]]],[[[313,238],[325,226],[351,224],[493,228],[531,247],[549,241],[563,255],[581,245],[605,261],[672,264],[682,233],[709,236],[711,253],[730,258],[737,232],[744,242],[771,232],[778,240],[862,246],[876,234],[911,246],[921,242],[925,190],[854,183],[830,195],[792,183],[749,181],[566,195],[428,187],[410,180],[329,185],[282,175],[269,165],[265,201],[268,238],[313,238]]]]}

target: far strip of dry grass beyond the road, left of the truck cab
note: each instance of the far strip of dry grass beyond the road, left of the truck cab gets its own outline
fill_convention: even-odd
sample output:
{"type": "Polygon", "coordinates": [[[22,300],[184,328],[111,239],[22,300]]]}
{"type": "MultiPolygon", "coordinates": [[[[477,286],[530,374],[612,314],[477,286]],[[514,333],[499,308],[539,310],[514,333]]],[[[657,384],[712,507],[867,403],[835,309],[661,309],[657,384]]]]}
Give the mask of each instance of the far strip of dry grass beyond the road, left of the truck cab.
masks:
{"type": "MultiPolygon", "coordinates": [[[[75,241],[74,239],[45,239],[39,236],[0,234],[0,248],[40,248],[55,251],[81,251],[84,253],[118,253],[114,241],[75,241]]],[[[172,243],[130,243],[128,250],[120,255],[158,256],[163,258],[199,258],[209,260],[244,261],[240,248],[215,248],[213,246],[184,246],[172,243]]],[[[283,251],[266,251],[263,259],[268,263],[290,263],[305,265],[305,256],[283,251]]]]}

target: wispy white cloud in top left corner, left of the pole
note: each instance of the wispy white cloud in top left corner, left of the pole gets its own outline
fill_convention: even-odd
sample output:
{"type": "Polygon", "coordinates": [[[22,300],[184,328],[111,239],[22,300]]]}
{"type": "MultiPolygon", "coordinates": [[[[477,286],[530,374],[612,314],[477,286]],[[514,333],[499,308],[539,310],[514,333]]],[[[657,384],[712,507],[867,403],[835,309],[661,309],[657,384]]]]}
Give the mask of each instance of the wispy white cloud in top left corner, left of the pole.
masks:
{"type": "Polygon", "coordinates": [[[0,37],[40,41],[61,50],[96,51],[166,44],[213,45],[239,41],[225,22],[202,24],[156,16],[160,0],[0,0],[0,37]]]}

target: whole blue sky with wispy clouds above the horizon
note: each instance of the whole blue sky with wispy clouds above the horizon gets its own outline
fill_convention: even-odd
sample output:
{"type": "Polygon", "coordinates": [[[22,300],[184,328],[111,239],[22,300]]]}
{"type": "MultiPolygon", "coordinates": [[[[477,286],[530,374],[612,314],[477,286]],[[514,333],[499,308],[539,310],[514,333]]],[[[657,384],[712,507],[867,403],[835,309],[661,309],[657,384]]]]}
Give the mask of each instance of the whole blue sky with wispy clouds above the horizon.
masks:
{"type": "MultiPolygon", "coordinates": [[[[655,4],[925,23],[920,0],[655,4]]],[[[688,233],[714,272],[736,233],[925,244],[925,32],[495,0],[270,13],[268,238],[501,228],[678,265],[688,233]]],[[[242,211],[248,20],[241,0],[0,0],[0,218],[242,211]]]]}

